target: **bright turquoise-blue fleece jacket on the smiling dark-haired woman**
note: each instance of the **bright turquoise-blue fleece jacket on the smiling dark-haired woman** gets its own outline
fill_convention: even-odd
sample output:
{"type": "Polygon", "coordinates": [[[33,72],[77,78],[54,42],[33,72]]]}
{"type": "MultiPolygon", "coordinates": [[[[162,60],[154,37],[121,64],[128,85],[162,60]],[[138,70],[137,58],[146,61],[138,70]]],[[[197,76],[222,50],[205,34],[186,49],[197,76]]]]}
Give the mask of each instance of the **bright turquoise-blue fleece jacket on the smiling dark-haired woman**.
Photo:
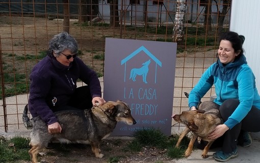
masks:
{"type": "Polygon", "coordinates": [[[221,105],[223,101],[231,98],[240,101],[235,112],[224,122],[229,129],[245,118],[252,105],[260,109],[260,96],[255,87],[255,76],[247,65],[244,55],[227,65],[223,65],[219,60],[211,65],[191,90],[189,107],[197,106],[200,99],[211,89],[213,84],[217,96],[214,102],[217,104],[221,105]]]}

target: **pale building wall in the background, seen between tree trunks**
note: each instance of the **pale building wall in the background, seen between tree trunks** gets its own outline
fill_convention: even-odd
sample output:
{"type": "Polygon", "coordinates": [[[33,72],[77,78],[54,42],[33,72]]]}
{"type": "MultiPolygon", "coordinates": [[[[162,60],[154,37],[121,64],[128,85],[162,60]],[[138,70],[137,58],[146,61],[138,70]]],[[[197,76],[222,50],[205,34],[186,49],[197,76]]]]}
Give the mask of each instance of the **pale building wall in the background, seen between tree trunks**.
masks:
{"type": "MultiPolygon", "coordinates": [[[[119,10],[121,9],[121,2],[119,3],[119,10]]],[[[204,22],[204,12],[205,7],[200,6],[200,0],[187,0],[187,7],[186,7],[186,15],[185,18],[187,21],[196,22],[196,23],[203,23],[204,22]]],[[[123,1],[123,10],[126,11],[125,17],[123,20],[144,20],[144,1],[140,1],[139,5],[129,5],[129,0],[123,1]]],[[[221,4],[221,3],[220,3],[221,4]]],[[[222,10],[223,6],[218,6],[220,10],[222,10]]],[[[156,22],[158,19],[162,22],[173,22],[175,17],[176,11],[176,0],[164,0],[164,4],[162,6],[153,5],[152,1],[148,1],[147,5],[147,17],[148,21],[156,22]],[[158,14],[159,12],[159,14],[158,14]]],[[[100,1],[99,4],[99,12],[103,16],[105,20],[109,20],[110,16],[110,9],[107,0],[100,1]]],[[[228,11],[228,15],[230,14],[230,10],[228,11]]],[[[218,10],[215,1],[213,1],[212,5],[212,20],[213,24],[217,23],[217,16],[218,10]]],[[[226,16],[226,18],[228,18],[226,16]]],[[[225,22],[229,20],[226,19],[225,22]]]]}

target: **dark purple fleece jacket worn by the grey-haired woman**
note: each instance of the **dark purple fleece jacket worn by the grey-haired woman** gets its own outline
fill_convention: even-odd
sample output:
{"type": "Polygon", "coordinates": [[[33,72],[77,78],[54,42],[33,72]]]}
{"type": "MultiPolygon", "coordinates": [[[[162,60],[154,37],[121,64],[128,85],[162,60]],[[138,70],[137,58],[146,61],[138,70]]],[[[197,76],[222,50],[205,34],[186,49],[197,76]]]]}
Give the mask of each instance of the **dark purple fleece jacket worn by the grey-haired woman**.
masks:
{"type": "Polygon", "coordinates": [[[77,57],[70,66],[62,65],[53,55],[48,54],[32,70],[30,75],[29,110],[33,117],[40,116],[47,125],[58,122],[49,106],[66,105],[81,79],[90,88],[93,97],[101,97],[101,86],[95,71],[77,57]]]}

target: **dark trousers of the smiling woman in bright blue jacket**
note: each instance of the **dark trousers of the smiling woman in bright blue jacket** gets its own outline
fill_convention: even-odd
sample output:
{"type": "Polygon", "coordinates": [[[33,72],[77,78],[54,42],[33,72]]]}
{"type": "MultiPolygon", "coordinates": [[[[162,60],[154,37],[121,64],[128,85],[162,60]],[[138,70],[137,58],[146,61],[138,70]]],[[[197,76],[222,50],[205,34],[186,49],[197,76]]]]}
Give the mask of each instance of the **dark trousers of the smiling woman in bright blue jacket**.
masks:
{"type": "MultiPolygon", "coordinates": [[[[238,99],[225,100],[219,107],[220,115],[223,121],[227,121],[228,117],[236,110],[239,105],[238,99]]],[[[239,135],[243,131],[258,132],[260,131],[260,110],[252,106],[246,117],[232,129],[227,130],[223,134],[222,150],[225,153],[230,153],[237,148],[239,135]]]]}

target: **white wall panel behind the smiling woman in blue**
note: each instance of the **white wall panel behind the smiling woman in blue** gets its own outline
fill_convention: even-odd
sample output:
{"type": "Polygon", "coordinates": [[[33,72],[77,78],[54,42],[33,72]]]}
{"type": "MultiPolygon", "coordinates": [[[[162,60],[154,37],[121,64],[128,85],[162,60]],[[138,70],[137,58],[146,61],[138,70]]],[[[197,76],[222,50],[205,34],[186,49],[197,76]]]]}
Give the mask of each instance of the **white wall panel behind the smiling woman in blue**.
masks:
{"type": "Polygon", "coordinates": [[[245,36],[244,50],[248,65],[252,68],[256,87],[260,93],[260,1],[232,1],[230,31],[245,36]]]}

